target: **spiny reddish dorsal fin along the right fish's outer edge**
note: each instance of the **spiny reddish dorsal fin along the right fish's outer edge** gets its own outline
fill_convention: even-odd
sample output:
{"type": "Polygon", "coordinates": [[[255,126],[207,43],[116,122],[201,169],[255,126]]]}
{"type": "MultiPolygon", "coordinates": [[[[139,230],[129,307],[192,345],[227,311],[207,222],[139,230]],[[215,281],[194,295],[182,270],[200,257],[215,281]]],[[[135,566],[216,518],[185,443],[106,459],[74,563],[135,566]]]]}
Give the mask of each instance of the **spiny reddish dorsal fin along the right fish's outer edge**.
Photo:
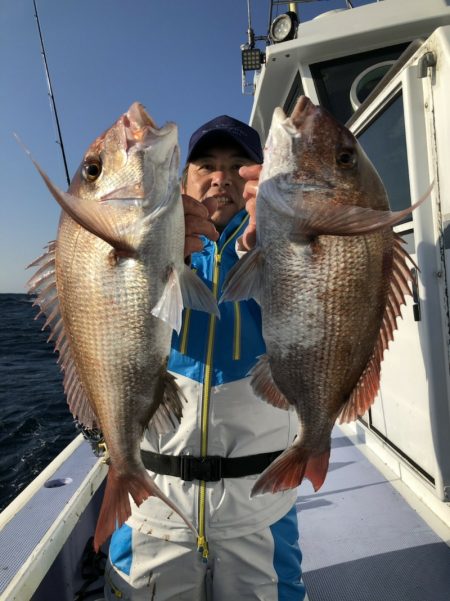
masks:
{"type": "Polygon", "coordinates": [[[408,265],[417,265],[403,248],[403,240],[394,234],[393,263],[390,289],[387,296],[386,307],[383,314],[380,333],[375,343],[363,373],[340,414],[340,423],[354,421],[363,415],[375,400],[380,388],[381,362],[384,351],[394,339],[397,329],[397,319],[401,315],[401,306],[406,303],[406,296],[412,295],[412,283],[415,277],[408,265]]]}

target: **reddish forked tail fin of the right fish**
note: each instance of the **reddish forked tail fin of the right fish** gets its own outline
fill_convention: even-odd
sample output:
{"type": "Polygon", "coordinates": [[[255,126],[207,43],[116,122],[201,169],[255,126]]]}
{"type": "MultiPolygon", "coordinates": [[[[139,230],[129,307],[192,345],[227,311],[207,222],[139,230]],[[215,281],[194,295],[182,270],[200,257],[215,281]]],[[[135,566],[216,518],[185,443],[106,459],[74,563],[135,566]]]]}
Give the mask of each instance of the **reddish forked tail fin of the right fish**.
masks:
{"type": "Polygon", "coordinates": [[[329,450],[311,456],[310,451],[294,444],[264,470],[250,496],[295,488],[301,484],[304,477],[312,482],[314,490],[317,491],[325,480],[329,458],[329,450]]]}

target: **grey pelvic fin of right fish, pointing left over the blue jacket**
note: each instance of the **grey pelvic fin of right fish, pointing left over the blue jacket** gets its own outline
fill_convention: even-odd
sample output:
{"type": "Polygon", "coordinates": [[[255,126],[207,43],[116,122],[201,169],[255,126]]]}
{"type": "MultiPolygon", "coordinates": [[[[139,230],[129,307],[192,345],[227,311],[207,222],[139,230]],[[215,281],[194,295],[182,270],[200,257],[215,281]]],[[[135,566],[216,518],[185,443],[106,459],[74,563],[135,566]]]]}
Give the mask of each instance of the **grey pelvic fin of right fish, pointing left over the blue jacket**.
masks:
{"type": "Polygon", "coordinates": [[[222,287],[219,303],[261,298],[262,266],[264,255],[260,247],[255,246],[246,253],[228,273],[222,287]]]}

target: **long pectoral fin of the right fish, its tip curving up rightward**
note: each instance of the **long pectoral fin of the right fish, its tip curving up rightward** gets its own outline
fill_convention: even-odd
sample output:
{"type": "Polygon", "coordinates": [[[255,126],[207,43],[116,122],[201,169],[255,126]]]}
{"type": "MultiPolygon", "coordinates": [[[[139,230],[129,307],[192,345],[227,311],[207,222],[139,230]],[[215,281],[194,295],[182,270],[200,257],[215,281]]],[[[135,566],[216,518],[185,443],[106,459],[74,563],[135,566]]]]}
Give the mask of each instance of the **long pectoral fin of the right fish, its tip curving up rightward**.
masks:
{"type": "Polygon", "coordinates": [[[299,203],[291,239],[304,240],[307,236],[320,235],[355,236],[392,227],[427,199],[433,185],[432,183],[416,203],[403,211],[378,211],[368,207],[329,203],[304,206],[299,203]]]}

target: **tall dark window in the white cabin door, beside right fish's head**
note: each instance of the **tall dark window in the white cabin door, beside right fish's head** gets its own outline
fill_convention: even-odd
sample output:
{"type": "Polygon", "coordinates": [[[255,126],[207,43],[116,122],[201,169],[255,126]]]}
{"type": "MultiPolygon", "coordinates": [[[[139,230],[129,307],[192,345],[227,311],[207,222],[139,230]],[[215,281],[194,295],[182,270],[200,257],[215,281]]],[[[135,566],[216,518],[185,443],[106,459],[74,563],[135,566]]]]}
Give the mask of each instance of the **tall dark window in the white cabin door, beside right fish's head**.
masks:
{"type": "MultiPolygon", "coordinates": [[[[378,171],[393,211],[411,205],[403,96],[398,94],[361,133],[358,141],[378,171]]],[[[408,215],[402,223],[411,221],[408,215]]]]}

